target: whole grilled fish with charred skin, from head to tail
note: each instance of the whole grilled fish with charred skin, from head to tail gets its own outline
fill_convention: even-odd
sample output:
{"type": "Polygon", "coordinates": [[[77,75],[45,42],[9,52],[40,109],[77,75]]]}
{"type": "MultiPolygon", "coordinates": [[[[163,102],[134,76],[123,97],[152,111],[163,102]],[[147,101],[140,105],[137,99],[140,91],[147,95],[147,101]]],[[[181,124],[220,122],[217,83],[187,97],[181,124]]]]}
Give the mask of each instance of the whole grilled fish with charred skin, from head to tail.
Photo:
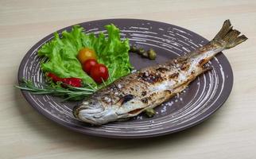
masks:
{"type": "Polygon", "coordinates": [[[84,99],[74,108],[73,114],[80,121],[102,125],[157,107],[183,91],[196,76],[208,71],[210,68],[204,64],[218,52],[246,41],[246,36],[239,34],[238,30],[232,29],[229,20],[224,21],[222,29],[207,45],[187,56],[143,68],[114,81],[84,99]]]}

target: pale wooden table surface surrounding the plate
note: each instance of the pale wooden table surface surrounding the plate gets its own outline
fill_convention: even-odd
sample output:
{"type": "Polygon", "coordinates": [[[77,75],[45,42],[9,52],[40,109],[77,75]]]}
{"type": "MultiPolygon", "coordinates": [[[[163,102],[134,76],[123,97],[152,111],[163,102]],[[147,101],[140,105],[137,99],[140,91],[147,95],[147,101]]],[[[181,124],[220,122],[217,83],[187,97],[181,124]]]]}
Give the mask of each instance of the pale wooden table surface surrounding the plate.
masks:
{"type": "Polygon", "coordinates": [[[256,158],[256,2],[0,0],[0,158],[256,158]],[[234,87],[206,122],[160,138],[118,140],[72,132],[38,114],[17,84],[25,53],[42,37],[83,21],[141,18],[209,40],[231,19],[249,40],[226,53],[234,87]]]}

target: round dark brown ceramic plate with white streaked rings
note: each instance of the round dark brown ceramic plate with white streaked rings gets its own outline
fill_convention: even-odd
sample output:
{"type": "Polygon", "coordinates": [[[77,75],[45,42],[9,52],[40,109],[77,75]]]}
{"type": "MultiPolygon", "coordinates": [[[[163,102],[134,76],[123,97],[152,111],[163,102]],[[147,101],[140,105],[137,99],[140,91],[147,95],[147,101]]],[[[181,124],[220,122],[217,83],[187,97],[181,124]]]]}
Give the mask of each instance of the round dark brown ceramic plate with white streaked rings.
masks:
{"type": "MultiPolygon", "coordinates": [[[[129,38],[131,45],[145,49],[153,48],[157,51],[157,60],[142,59],[130,53],[130,62],[137,69],[184,55],[208,42],[204,37],[187,29],[158,21],[107,19],[83,22],[80,25],[87,33],[97,34],[99,31],[105,31],[103,26],[110,23],[122,30],[122,37],[129,38]]],[[[64,29],[71,28],[72,26],[68,26],[64,29]]],[[[64,29],[57,32],[60,33],[64,29]]],[[[41,58],[37,56],[37,49],[52,37],[53,34],[48,35],[27,52],[19,68],[19,81],[25,78],[33,80],[37,85],[44,83],[45,79],[40,71],[41,58]]],[[[184,93],[170,99],[169,104],[164,103],[157,107],[157,114],[153,118],[146,118],[145,114],[140,114],[129,121],[112,122],[104,126],[90,126],[76,120],[72,115],[75,102],[62,103],[62,99],[51,95],[32,95],[27,91],[22,93],[31,106],[41,114],[61,126],[80,133],[107,138],[148,138],[195,126],[223,105],[231,93],[233,84],[231,65],[223,53],[219,53],[209,65],[213,68],[212,71],[199,76],[190,83],[184,93]]]]}

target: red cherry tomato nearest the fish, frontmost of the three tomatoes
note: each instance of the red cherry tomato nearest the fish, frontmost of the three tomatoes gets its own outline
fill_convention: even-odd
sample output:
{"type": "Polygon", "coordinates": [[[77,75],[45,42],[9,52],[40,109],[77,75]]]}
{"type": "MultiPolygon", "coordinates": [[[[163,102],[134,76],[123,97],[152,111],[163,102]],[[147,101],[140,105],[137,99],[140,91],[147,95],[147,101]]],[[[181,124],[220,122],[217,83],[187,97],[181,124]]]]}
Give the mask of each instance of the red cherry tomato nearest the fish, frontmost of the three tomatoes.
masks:
{"type": "Polygon", "coordinates": [[[96,83],[103,83],[103,80],[108,79],[108,70],[104,64],[95,64],[94,67],[91,68],[90,75],[96,83]]]}

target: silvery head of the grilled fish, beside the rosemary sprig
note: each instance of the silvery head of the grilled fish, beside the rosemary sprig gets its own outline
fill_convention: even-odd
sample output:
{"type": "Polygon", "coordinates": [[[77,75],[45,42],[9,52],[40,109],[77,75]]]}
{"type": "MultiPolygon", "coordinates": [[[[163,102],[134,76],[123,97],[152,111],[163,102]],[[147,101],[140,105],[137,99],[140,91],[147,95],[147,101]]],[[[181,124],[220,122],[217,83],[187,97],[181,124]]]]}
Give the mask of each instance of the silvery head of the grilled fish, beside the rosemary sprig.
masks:
{"type": "Polygon", "coordinates": [[[118,114],[116,114],[115,110],[114,106],[106,106],[106,103],[100,100],[88,99],[74,107],[73,114],[80,121],[97,126],[118,119],[118,114]]]}

